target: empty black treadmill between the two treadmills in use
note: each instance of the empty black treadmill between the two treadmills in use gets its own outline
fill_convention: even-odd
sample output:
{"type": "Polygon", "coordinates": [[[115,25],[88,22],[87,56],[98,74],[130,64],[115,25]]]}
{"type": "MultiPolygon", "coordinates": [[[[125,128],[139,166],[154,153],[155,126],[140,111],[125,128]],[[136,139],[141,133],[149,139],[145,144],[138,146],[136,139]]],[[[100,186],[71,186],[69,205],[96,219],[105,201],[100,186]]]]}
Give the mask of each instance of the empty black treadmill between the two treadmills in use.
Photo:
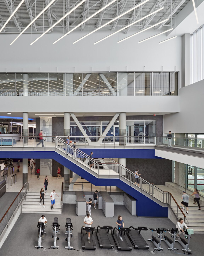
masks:
{"type": "Polygon", "coordinates": [[[114,247],[112,237],[109,233],[109,230],[112,230],[112,229],[113,229],[112,226],[97,227],[96,236],[97,236],[97,240],[100,248],[114,247]]]}

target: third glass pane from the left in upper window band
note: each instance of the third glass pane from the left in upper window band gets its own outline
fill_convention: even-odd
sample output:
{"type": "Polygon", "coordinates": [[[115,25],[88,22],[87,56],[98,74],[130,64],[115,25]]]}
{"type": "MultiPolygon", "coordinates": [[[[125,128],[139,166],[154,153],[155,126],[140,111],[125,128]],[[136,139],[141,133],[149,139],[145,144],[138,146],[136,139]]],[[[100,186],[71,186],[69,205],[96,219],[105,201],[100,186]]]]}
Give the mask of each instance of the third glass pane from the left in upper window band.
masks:
{"type": "Polygon", "coordinates": [[[33,73],[32,96],[48,96],[49,74],[33,73]]]}

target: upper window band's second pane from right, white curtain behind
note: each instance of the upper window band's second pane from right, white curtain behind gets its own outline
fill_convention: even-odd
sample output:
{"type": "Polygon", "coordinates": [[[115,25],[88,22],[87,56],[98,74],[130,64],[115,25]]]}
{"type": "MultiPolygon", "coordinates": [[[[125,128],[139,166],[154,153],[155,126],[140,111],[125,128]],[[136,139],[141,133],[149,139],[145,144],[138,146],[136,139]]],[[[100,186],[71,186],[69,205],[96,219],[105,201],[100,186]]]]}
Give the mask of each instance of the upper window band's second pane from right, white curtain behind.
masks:
{"type": "Polygon", "coordinates": [[[169,95],[169,72],[153,72],[152,95],[169,95]]]}

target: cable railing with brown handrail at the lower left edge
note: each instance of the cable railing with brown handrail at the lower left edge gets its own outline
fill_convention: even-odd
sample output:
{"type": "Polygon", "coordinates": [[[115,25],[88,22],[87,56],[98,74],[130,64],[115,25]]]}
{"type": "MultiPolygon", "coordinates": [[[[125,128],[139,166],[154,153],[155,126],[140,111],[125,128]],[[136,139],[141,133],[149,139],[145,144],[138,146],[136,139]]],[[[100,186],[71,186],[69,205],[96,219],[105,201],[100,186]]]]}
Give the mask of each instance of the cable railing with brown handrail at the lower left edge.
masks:
{"type": "MultiPolygon", "coordinates": [[[[2,236],[4,235],[4,230],[8,227],[12,217],[16,215],[17,209],[22,205],[23,200],[26,197],[28,189],[28,183],[26,182],[24,186],[21,188],[20,192],[9,206],[8,210],[5,212],[4,216],[0,220],[0,239],[2,240],[2,236]]],[[[22,214],[22,208],[21,208],[22,214]]]]}

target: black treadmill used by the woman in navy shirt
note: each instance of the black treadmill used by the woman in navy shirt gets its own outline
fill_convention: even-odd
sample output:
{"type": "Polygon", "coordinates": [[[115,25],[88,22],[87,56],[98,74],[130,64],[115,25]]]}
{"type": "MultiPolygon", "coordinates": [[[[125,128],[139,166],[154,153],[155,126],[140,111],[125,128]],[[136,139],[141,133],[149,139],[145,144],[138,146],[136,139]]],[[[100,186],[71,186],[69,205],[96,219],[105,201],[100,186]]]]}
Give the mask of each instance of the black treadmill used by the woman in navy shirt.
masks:
{"type": "Polygon", "coordinates": [[[130,242],[130,239],[127,237],[127,232],[130,232],[130,228],[114,228],[113,230],[111,230],[113,240],[119,251],[132,251],[132,244],[130,242]],[[123,241],[120,239],[117,230],[121,231],[121,238],[123,241]]]}

